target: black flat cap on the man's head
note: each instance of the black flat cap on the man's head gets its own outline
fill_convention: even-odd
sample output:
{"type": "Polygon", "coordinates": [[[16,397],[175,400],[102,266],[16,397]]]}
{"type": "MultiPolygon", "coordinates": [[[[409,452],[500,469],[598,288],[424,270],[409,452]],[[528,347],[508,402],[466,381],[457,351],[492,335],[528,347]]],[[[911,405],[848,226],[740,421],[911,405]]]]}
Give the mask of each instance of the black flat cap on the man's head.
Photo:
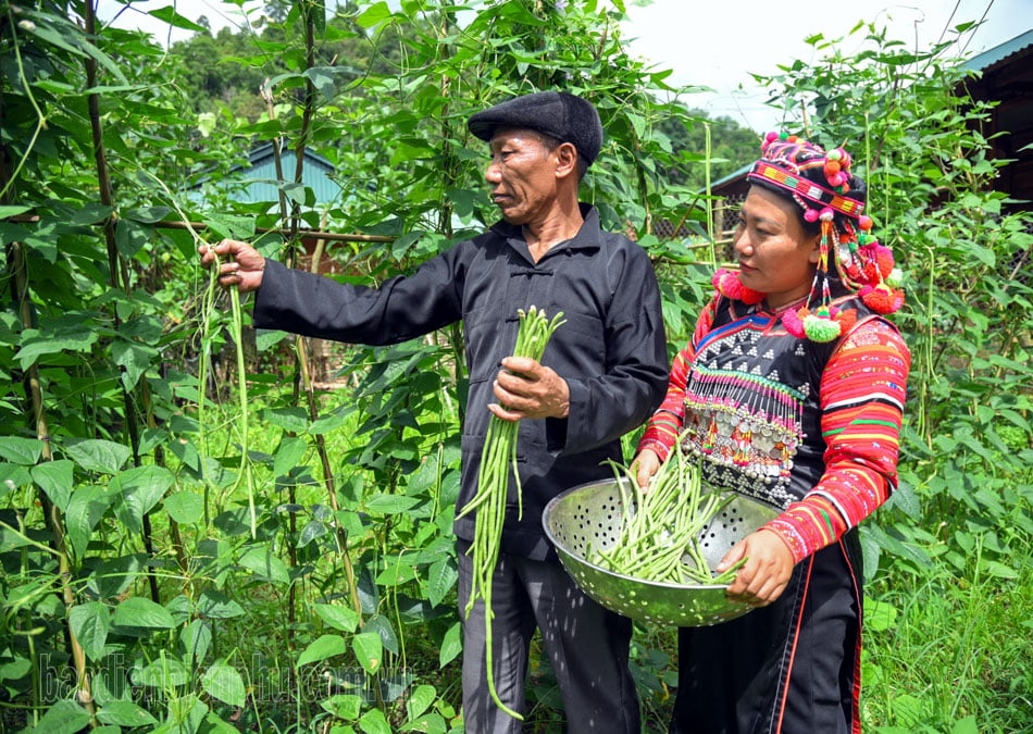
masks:
{"type": "Polygon", "coordinates": [[[565,91],[538,91],[477,112],[466,123],[482,140],[501,128],[532,129],[573,144],[590,164],[602,147],[602,123],[592,102],[565,91]]]}

